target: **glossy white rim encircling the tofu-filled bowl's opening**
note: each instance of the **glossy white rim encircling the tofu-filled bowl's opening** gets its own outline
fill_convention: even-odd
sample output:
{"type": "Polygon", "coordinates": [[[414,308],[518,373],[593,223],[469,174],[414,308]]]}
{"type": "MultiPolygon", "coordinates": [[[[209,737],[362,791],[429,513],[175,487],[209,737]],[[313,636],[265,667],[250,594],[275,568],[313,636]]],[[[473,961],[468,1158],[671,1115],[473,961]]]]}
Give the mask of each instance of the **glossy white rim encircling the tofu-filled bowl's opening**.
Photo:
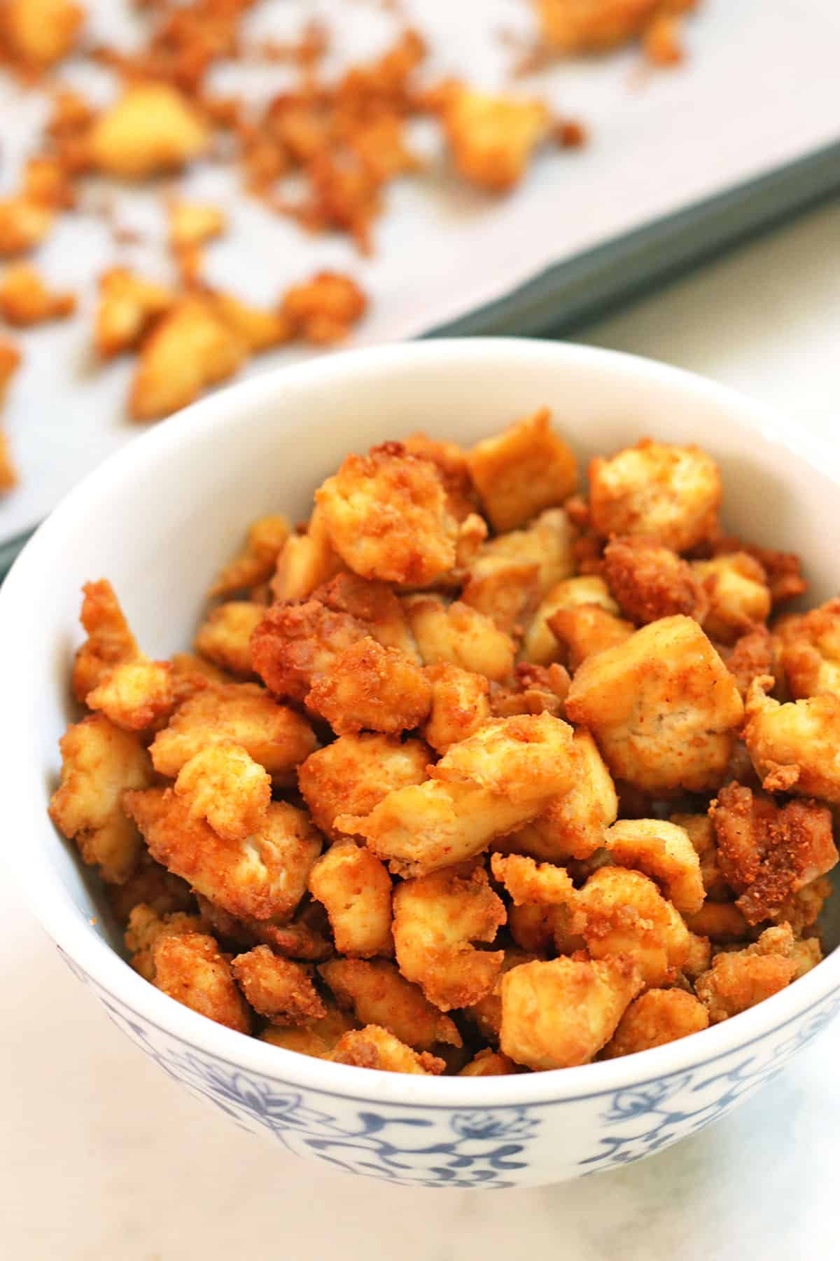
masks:
{"type": "MultiPolygon", "coordinates": [[[[734,427],[758,434],[766,443],[792,453],[839,484],[837,477],[829,473],[837,467],[836,455],[812,434],[786,434],[780,419],[739,392],[693,372],[623,352],[523,338],[441,338],[341,351],[327,358],[281,367],[201,398],[165,425],[139,435],[83,478],[38,528],[0,588],[0,646],[5,649],[0,660],[13,663],[11,668],[4,667],[8,715],[26,712],[26,680],[23,671],[14,670],[15,648],[26,634],[25,617],[20,617],[20,610],[26,608],[26,590],[48,580],[52,565],[60,557],[67,528],[113,499],[115,487],[121,482],[136,484],[159,462],[189,448],[195,436],[236,424],[237,416],[246,416],[257,406],[277,402],[282,407],[283,390],[290,383],[317,392],[340,380],[351,388],[354,378],[370,373],[399,372],[417,364],[427,364],[429,371],[445,364],[480,369],[490,361],[497,363],[501,356],[511,368],[550,361],[558,367],[606,373],[618,381],[632,378],[652,390],[669,386],[686,396],[707,400],[725,411],[734,427]]],[[[0,736],[8,801],[21,830],[43,827],[47,822],[40,805],[43,779],[42,796],[37,789],[43,768],[30,764],[35,759],[26,757],[25,734],[25,724],[21,731],[13,721],[5,724],[5,734],[0,736]]],[[[315,1059],[215,1024],[156,990],[93,932],[54,865],[38,847],[18,846],[14,855],[9,855],[8,865],[34,917],[60,951],[97,989],[139,1019],[237,1071],[251,1071],[283,1086],[363,1103],[445,1110],[525,1107],[636,1090],[747,1049],[768,1033],[800,1020],[832,990],[840,989],[840,950],[836,950],[796,985],[730,1020],[678,1042],[576,1068],[468,1078],[470,1084],[465,1087],[465,1079],[458,1077],[416,1077],[315,1059]]]]}

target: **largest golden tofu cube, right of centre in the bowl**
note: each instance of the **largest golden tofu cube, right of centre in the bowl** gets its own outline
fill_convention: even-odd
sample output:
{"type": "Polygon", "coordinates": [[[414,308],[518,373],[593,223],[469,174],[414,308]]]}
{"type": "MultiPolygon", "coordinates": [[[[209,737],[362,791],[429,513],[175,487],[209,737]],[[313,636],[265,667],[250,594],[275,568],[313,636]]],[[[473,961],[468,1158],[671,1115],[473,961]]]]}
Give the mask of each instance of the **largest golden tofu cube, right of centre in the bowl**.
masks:
{"type": "Polygon", "coordinates": [[[743,702],[696,622],[674,617],[584,661],[565,711],[592,731],[616,778],[704,792],[720,783],[743,702]]]}

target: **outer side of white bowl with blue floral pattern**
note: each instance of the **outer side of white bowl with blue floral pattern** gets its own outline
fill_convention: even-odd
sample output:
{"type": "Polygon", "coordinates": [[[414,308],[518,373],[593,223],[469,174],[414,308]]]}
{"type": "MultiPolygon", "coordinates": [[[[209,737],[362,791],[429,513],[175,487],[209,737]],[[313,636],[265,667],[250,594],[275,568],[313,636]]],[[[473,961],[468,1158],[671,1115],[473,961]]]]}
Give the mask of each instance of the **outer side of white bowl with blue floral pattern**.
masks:
{"type": "Polygon", "coordinates": [[[775,1077],[840,1009],[831,994],[772,1035],[742,1045],[689,1072],[582,1098],[492,1108],[398,1106],[301,1090],[278,1077],[246,1072],[199,1052],[91,985],[113,1023],[174,1081],[227,1113],[241,1129],[263,1134],[296,1155],[344,1173],[406,1187],[501,1189],[597,1173],[640,1160],[724,1116],[775,1077]],[[598,1149],[563,1161],[549,1112],[586,1108],[598,1149]],[[554,1179],[547,1164],[557,1165],[554,1179]]]}

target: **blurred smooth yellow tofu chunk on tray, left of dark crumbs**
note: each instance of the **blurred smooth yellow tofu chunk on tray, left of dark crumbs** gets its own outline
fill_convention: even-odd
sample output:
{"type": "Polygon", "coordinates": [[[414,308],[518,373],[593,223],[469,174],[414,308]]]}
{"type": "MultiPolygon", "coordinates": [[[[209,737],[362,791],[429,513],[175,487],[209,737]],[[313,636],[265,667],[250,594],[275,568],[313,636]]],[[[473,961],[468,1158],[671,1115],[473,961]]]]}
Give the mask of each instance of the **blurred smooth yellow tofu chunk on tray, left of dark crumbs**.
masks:
{"type": "Polygon", "coordinates": [[[97,116],[88,145],[93,166],[118,179],[179,170],[209,145],[207,122],[169,83],[133,83],[97,116]]]}

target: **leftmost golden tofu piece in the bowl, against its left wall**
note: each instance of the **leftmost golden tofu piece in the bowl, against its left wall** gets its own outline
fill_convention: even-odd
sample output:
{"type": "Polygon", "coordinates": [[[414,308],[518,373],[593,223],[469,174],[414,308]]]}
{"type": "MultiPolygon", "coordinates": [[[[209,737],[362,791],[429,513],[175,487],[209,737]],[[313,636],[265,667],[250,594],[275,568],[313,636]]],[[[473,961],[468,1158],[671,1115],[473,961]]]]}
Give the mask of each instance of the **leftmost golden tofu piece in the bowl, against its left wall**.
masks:
{"type": "Polygon", "coordinates": [[[122,884],[142,852],[122,794],[152,782],[149,754],[136,735],[122,731],[103,714],[68,726],[59,748],[62,782],[49,806],[50,818],[76,841],[82,859],[98,866],[103,880],[122,884]]]}

